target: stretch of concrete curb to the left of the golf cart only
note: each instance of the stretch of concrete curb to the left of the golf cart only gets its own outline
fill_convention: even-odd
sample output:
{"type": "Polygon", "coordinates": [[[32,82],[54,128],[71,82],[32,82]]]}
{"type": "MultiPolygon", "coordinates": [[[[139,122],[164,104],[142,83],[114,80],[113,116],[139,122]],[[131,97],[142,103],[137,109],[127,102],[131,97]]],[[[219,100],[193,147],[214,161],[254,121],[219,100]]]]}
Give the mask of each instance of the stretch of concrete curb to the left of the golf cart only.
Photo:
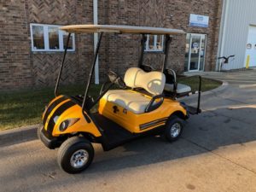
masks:
{"type": "Polygon", "coordinates": [[[38,125],[23,126],[11,130],[0,131],[0,146],[23,143],[37,139],[38,125]]]}

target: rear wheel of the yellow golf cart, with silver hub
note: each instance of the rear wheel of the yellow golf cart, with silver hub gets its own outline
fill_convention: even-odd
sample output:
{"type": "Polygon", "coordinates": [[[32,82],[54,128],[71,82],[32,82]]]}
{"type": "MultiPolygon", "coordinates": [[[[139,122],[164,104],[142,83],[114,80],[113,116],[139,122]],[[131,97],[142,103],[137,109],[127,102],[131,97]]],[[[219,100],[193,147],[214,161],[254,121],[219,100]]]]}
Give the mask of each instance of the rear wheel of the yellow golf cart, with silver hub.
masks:
{"type": "Polygon", "coordinates": [[[165,136],[169,142],[175,142],[183,133],[183,119],[176,115],[171,116],[166,122],[165,136]],[[177,129],[177,132],[173,131],[177,129]]]}

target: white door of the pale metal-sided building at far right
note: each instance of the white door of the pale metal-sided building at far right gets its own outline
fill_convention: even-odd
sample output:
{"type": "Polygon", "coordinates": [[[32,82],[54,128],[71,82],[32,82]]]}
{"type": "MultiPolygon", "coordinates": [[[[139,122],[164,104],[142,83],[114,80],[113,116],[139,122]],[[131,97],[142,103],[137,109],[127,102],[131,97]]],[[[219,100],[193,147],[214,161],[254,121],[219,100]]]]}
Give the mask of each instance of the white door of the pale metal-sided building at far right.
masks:
{"type": "Polygon", "coordinates": [[[256,67],[256,26],[249,26],[245,67],[256,67]]]}

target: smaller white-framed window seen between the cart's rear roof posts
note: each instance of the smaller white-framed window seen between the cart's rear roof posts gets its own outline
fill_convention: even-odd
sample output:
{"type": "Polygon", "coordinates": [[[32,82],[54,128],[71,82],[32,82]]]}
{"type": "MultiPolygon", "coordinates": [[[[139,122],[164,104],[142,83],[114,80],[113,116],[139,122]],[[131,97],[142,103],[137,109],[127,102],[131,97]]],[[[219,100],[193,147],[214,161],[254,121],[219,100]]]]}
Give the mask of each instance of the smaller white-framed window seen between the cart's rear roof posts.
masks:
{"type": "Polygon", "coordinates": [[[145,51],[163,51],[164,50],[163,35],[148,35],[145,51]]]}

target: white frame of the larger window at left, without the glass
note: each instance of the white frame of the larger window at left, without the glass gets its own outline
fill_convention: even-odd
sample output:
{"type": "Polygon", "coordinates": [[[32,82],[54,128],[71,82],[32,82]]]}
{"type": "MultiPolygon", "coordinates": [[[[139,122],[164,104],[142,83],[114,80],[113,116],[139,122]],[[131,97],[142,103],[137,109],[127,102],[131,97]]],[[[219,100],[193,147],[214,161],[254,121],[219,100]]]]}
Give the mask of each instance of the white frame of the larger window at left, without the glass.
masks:
{"type": "MultiPolygon", "coordinates": [[[[60,27],[59,25],[48,25],[48,24],[39,24],[39,23],[31,23],[30,24],[30,34],[31,34],[31,46],[32,46],[32,52],[64,52],[64,45],[66,42],[63,41],[64,38],[64,31],[59,30],[59,47],[60,49],[49,49],[49,26],[53,27],[60,27]],[[44,30],[44,49],[34,49],[34,39],[33,39],[33,33],[32,33],[32,27],[33,26],[43,26],[44,30]]],[[[73,49],[67,49],[69,52],[75,51],[75,35],[74,33],[71,33],[70,36],[73,39],[73,49]]]]}

